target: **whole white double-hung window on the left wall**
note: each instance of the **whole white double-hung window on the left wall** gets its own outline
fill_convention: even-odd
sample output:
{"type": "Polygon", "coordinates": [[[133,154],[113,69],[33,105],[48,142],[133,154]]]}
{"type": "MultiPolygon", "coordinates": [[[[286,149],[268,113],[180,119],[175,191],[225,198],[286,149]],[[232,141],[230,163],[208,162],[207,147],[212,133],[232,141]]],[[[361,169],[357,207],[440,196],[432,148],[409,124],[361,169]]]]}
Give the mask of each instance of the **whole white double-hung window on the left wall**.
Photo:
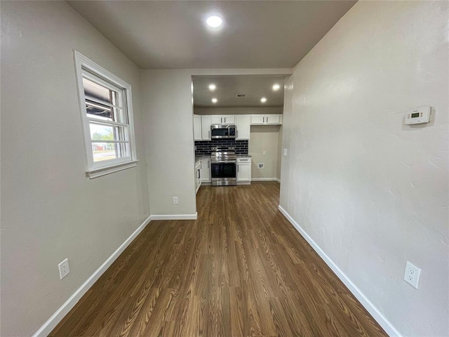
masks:
{"type": "Polygon", "coordinates": [[[74,52],[89,178],[137,165],[131,86],[74,52]]]}

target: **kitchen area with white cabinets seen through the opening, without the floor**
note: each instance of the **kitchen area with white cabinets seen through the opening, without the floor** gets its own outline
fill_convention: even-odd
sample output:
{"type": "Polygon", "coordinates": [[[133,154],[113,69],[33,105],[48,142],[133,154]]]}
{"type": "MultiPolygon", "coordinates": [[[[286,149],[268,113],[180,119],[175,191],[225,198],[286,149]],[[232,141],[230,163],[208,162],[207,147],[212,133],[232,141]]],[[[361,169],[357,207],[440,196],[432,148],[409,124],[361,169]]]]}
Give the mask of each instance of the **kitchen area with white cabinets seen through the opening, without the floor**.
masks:
{"type": "Polygon", "coordinates": [[[194,77],[192,87],[196,192],[279,181],[283,76],[194,77]]]}

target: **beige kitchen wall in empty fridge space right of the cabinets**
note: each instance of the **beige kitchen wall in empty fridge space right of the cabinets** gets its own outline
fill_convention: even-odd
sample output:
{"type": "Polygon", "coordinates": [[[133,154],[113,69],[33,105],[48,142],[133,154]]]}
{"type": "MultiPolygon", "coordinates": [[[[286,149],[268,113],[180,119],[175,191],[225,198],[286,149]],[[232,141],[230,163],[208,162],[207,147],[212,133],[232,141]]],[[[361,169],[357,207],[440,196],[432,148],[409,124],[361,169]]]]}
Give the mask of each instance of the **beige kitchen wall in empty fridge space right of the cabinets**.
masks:
{"type": "Polygon", "coordinates": [[[276,179],[278,169],[279,125],[252,125],[248,154],[251,156],[251,178],[276,179]],[[265,154],[264,154],[265,152],[265,154]],[[258,163],[264,168],[259,169],[258,163]]]}

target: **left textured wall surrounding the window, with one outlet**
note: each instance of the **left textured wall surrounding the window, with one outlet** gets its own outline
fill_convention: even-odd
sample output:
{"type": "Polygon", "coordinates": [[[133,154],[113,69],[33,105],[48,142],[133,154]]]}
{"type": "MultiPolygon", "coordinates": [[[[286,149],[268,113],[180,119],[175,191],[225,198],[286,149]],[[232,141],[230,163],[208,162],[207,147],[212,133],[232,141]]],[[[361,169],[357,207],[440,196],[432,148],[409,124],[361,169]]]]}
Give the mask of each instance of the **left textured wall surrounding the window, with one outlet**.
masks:
{"type": "Polygon", "coordinates": [[[149,216],[139,76],[65,1],[1,1],[1,336],[39,329],[149,216]],[[131,84],[137,167],[86,178],[73,49],[131,84]]]}

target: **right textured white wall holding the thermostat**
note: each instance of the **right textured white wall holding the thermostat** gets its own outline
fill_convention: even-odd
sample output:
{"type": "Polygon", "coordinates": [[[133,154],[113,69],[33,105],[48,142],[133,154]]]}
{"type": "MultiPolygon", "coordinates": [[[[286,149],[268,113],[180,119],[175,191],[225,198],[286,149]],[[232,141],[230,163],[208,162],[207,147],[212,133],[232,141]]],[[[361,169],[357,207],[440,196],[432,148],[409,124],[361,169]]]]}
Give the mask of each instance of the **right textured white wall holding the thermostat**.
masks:
{"type": "Polygon", "coordinates": [[[280,204],[404,336],[449,335],[448,16],[359,1],[286,84],[280,204]]]}

